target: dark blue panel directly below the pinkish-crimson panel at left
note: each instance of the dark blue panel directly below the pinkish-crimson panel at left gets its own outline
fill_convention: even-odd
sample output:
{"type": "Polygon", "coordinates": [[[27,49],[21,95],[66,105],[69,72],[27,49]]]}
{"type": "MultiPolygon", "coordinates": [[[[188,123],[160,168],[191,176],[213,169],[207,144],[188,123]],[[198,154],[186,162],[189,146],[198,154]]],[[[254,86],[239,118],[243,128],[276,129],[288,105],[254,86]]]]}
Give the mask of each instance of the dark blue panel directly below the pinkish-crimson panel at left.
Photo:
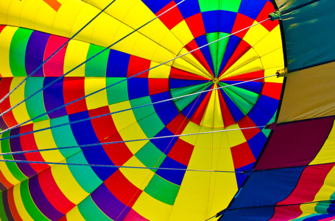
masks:
{"type": "MultiPolygon", "coordinates": [[[[54,77],[44,78],[43,87],[48,83],[54,81],[55,79],[56,78],[54,77]]],[[[55,108],[61,107],[65,104],[63,95],[63,80],[53,83],[43,90],[43,101],[45,111],[47,112],[54,110],[55,108]]],[[[49,118],[56,118],[65,115],[67,115],[65,107],[57,111],[48,113],[49,118]]]]}

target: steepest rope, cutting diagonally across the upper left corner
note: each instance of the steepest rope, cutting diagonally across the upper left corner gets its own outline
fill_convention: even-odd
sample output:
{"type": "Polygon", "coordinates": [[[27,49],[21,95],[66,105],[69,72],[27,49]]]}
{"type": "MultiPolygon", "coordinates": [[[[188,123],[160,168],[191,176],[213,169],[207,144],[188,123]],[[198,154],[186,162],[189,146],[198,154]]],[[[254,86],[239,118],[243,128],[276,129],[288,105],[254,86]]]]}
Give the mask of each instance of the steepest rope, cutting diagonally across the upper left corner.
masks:
{"type": "MultiPolygon", "coordinates": [[[[91,22],[93,22],[104,10],[106,10],[115,0],[110,2],[106,7],[104,7],[96,16],[93,17],[86,25],[84,25],[82,28],[80,28],[72,37],[70,37],[61,47],[59,47],[52,55],[50,55],[45,61],[43,61],[35,70],[33,70],[32,73],[30,73],[25,79],[23,79],[22,82],[20,82],[18,85],[16,85],[11,91],[9,91],[1,100],[0,104],[7,98],[9,95],[11,95],[21,84],[25,83],[28,78],[30,78],[36,71],[38,71],[48,60],[50,60],[54,55],[56,55],[64,46],[67,45],[67,43],[72,40],[75,36],[77,36],[84,28],[86,28],[91,22]]],[[[2,114],[3,115],[3,114],[2,114]]],[[[1,116],[2,116],[1,115],[1,116]]]]}

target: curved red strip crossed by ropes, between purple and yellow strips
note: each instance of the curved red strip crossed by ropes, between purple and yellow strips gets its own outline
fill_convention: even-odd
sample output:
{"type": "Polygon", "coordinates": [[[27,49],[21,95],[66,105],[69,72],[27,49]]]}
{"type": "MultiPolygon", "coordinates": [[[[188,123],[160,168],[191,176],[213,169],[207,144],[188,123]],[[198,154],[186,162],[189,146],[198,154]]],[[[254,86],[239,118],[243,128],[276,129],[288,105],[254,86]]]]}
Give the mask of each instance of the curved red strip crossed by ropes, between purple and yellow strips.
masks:
{"type": "MultiPolygon", "coordinates": [[[[33,131],[33,124],[28,124],[20,128],[20,134],[31,131],[33,131]]],[[[33,134],[20,136],[20,142],[23,151],[38,150],[33,134]]],[[[27,158],[28,161],[44,162],[44,159],[40,152],[26,153],[25,157],[27,158]]],[[[30,166],[36,171],[36,173],[39,173],[40,171],[49,167],[49,165],[47,164],[30,164],[30,166]]]]}

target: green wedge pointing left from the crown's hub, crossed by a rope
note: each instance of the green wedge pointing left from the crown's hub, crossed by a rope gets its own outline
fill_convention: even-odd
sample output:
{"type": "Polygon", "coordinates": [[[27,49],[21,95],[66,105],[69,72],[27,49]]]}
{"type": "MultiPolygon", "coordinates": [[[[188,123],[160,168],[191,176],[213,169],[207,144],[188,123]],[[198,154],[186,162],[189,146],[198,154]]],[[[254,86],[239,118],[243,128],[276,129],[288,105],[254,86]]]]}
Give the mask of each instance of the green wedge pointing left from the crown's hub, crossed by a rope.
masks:
{"type": "MultiPolygon", "coordinates": [[[[209,86],[210,83],[201,83],[201,84],[191,85],[191,86],[188,86],[188,87],[181,87],[181,88],[172,89],[171,90],[171,95],[172,95],[172,97],[180,97],[180,96],[184,96],[184,95],[187,95],[187,94],[201,92],[201,91],[205,90],[204,87],[206,85],[209,86]]],[[[178,100],[174,100],[174,104],[177,106],[177,108],[180,111],[182,111],[193,100],[197,99],[197,97],[199,95],[200,94],[195,94],[195,95],[191,95],[191,96],[188,96],[188,97],[180,98],[178,100]]]]}

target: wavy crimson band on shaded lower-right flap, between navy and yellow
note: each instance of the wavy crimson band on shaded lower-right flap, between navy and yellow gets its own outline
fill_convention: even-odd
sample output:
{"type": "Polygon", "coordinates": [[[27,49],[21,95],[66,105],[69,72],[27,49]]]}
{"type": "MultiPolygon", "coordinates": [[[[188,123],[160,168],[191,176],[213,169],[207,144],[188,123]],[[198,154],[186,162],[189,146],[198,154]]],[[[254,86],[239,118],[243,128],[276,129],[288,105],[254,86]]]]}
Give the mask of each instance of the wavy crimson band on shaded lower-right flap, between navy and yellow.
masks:
{"type": "MultiPolygon", "coordinates": [[[[323,186],[326,176],[335,164],[307,166],[299,179],[299,182],[293,192],[283,201],[276,205],[296,204],[302,202],[311,202],[316,193],[323,186]]],[[[302,215],[300,205],[276,207],[272,221],[275,220],[293,220],[302,215]]]]}

